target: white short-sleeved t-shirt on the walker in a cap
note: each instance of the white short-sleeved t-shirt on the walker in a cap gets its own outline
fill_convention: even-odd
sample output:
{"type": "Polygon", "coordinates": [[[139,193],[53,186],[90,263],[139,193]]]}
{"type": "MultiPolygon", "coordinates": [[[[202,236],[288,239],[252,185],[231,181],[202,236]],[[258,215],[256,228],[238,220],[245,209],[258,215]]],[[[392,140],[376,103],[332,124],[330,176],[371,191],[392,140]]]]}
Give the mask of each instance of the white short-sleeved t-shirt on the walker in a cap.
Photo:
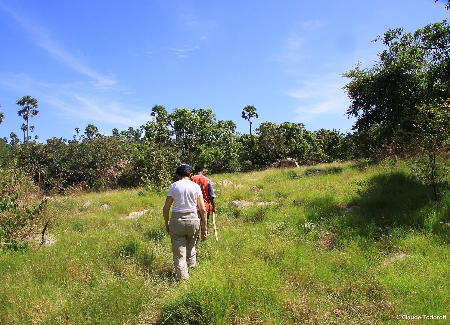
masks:
{"type": "Polygon", "coordinates": [[[173,212],[197,211],[197,200],[202,194],[200,186],[188,179],[176,181],[169,187],[167,196],[173,199],[173,212]]]}

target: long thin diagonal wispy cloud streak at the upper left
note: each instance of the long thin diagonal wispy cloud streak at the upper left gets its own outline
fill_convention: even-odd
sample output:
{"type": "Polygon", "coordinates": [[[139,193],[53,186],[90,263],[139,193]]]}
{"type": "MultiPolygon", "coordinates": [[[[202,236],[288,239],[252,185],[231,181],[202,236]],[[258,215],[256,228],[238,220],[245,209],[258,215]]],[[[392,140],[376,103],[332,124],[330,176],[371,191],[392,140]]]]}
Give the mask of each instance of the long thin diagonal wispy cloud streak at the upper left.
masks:
{"type": "Polygon", "coordinates": [[[47,51],[55,59],[66,64],[73,70],[80,72],[81,74],[93,79],[91,84],[99,89],[110,89],[117,84],[117,79],[112,75],[104,75],[96,72],[90,68],[87,64],[83,63],[80,59],[76,58],[69,52],[63,49],[61,45],[58,45],[51,39],[50,32],[44,27],[41,27],[38,23],[31,21],[30,19],[20,19],[18,15],[9,7],[0,3],[0,6],[6,10],[14,20],[29,34],[31,41],[39,45],[45,51],[47,51]]]}

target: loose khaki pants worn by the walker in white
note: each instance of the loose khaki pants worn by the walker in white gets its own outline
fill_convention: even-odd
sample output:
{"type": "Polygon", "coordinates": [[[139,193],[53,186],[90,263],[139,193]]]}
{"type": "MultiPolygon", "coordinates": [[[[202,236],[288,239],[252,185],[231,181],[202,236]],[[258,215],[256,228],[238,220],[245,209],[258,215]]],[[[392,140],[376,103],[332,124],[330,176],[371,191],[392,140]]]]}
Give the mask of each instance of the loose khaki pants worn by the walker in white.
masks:
{"type": "Polygon", "coordinates": [[[189,278],[188,266],[197,265],[195,240],[200,233],[200,215],[195,212],[172,212],[169,221],[175,280],[189,278]]]}

